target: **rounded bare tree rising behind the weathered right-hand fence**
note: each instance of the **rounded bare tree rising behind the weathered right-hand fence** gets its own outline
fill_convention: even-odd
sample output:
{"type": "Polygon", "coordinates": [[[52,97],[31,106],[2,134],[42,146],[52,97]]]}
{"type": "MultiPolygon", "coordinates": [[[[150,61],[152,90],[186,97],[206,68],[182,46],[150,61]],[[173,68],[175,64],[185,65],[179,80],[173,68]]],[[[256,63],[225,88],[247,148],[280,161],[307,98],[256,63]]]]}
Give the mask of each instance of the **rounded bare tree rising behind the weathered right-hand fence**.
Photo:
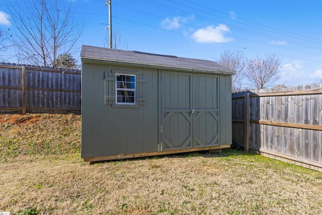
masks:
{"type": "Polygon", "coordinates": [[[245,76],[257,89],[270,87],[280,78],[280,64],[276,55],[267,55],[266,59],[257,57],[248,61],[245,76]]]}

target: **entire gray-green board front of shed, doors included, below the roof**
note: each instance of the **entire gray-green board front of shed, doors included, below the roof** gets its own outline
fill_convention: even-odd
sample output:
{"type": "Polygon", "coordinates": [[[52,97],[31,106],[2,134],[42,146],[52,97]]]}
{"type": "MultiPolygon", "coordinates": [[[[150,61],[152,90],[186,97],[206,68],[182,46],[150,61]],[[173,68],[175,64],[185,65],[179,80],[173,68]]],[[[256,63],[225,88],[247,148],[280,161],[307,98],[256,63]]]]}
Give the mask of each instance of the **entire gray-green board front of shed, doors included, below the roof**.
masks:
{"type": "Polygon", "coordinates": [[[94,62],[82,67],[82,158],[231,144],[230,76],[94,62]],[[135,104],[116,104],[117,73],[136,76],[135,104]]]}

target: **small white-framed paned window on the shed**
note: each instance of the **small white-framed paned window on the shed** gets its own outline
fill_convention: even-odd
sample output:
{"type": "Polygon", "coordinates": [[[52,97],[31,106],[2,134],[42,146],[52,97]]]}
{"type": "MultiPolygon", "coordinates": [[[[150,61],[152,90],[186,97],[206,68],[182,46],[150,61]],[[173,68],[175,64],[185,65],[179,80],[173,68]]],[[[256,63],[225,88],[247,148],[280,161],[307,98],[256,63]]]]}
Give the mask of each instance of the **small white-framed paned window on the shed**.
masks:
{"type": "Polygon", "coordinates": [[[116,104],[135,104],[135,75],[116,74],[116,104]]]}

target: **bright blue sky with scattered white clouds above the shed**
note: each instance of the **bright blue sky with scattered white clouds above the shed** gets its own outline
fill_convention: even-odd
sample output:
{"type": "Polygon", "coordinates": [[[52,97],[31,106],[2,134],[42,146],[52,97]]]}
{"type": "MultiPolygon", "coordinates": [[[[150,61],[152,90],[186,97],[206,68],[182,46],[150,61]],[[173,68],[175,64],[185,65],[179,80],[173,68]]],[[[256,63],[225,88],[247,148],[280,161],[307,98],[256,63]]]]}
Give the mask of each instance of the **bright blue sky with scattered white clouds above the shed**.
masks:
{"type": "MultiPolygon", "coordinates": [[[[84,23],[77,46],[103,46],[106,1],[61,1],[84,23]]],[[[8,13],[4,4],[0,0],[0,11],[8,13]]],[[[321,9],[319,0],[112,0],[112,29],[129,50],[209,60],[227,50],[247,58],[275,53],[282,66],[276,84],[297,86],[322,79],[321,9]]],[[[0,13],[0,28],[7,27],[0,13]]],[[[74,57],[79,60],[79,52],[74,57]]]]}

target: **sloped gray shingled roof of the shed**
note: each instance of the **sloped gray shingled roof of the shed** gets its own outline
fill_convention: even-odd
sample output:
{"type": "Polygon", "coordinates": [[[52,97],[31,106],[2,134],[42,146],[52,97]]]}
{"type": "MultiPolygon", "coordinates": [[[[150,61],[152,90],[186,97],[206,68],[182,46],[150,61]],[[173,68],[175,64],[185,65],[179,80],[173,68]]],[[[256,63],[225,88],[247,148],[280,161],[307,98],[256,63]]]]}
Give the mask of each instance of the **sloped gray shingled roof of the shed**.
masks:
{"type": "Polygon", "coordinates": [[[112,61],[148,67],[166,67],[176,70],[191,70],[212,73],[220,72],[229,75],[235,74],[235,71],[211,60],[185,58],[139,51],[125,51],[89,45],[82,46],[81,58],[83,61],[112,61]]]}

